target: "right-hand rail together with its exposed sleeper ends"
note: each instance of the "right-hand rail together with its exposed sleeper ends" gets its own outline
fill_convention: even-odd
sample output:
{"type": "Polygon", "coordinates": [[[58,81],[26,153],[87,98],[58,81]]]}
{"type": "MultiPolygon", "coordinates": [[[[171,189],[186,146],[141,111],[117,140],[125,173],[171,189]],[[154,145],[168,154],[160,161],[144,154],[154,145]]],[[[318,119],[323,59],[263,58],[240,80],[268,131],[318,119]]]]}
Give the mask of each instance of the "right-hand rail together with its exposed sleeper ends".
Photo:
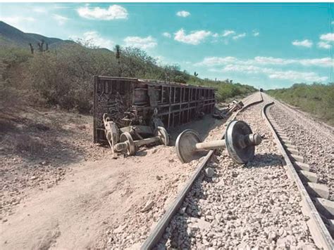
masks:
{"type": "Polygon", "coordinates": [[[270,112],[272,105],[274,103],[268,103],[262,114],[283,154],[287,173],[302,196],[302,211],[309,216],[307,224],[314,243],[322,249],[334,249],[334,202],[329,200],[329,189],[327,185],[318,183],[316,173],[310,171],[309,164],[304,163],[304,157],[297,147],[276,121],[273,121],[270,112]]]}

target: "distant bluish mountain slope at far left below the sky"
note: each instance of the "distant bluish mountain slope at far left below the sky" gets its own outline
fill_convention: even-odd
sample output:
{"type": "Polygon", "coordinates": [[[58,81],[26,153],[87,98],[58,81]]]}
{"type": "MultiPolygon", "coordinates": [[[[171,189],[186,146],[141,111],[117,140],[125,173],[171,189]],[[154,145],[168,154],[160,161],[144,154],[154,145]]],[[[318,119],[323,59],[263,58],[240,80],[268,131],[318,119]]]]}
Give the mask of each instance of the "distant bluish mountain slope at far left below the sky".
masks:
{"type": "Polygon", "coordinates": [[[62,40],[54,37],[44,37],[40,34],[25,33],[16,29],[6,22],[0,21],[0,45],[1,46],[18,46],[21,48],[29,48],[29,44],[37,47],[37,44],[44,40],[49,44],[50,48],[66,44],[70,41],[62,40]]]}

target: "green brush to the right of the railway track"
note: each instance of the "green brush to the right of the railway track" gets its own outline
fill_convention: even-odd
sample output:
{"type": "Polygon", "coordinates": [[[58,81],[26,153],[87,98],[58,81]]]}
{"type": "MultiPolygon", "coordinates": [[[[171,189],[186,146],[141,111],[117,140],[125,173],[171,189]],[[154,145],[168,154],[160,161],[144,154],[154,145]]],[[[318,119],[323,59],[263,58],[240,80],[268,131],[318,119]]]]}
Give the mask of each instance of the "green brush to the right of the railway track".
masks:
{"type": "Polygon", "coordinates": [[[294,84],[290,88],[268,90],[266,93],[334,125],[334,83],[294,84]]]}

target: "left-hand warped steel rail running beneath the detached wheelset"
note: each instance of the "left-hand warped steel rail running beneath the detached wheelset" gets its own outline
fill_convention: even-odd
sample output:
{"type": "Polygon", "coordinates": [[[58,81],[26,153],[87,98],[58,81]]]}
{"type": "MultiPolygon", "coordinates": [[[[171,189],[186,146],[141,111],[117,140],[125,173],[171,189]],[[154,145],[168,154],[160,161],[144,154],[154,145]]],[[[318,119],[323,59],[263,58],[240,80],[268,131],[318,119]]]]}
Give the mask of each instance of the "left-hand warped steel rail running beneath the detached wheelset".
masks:
{"type": "MultiPolygon", "coordinates": [[[[230,121],[233,121],[235,119],[235,117],[237,117],[237,114],[239,114],[240,112],[245,110],[247,107],[250,107],[252,105],[263,102],[264,99],[262,97],[261,92],[258,92],[258,93],[260,94],[260,100],[256,100],[252,103],[248,103],[247,105],[242,107],[242,109],[237,110],[237,112],[233,113],[228,118],[228,120],[225,122],[224,125],[226,126],[230,121]]],[[[255,96],[255,95],[256,95],[256,93],[253,94],[253,96],[255,96]]],[[[249,100],[249,99],[251,99],[251,98],[247,98],[247,100],[249,100]]],[[[223,130],[223,136],[221,138],[223,139],[224,137],[225,137],[225,128],[223,130]]],[[[197,169],[194,171],[194,173],[192,173],[192,176],[189,178],[189,180],[187,180],[187,183],[185,184],[183,189],[178,193],[178,196],[175,197],[174,202],[172,202],[171,205],[168,206],[168,208],[166,209],[166,212],[159,219],[158,223],[156,223],[155,227],[151,230],[151,232],[149,233],[149,236],[144,241],[144,243],[142,244],[140,249],[142,249],[142,250],[153,249],[154,246],[156,246],[156,244],[159,243],[159,240],[163,236],[163,233],[165,232],[165,230],[166,230],[168,224],[170,223],[171,219],[173,218],[175,213],[178,211],[178,209],[182,205],[183,200],[185,199],[185,196],[187,195],[187,192],[190,191],[190,189],[192,187],[192,184],[194,183],[194,180],[196,180],[199,177],[199,173],[201,173],[204,166],[206,166],[206,164],[209,162],[209,160],[211,159],[212,154],[214,154],[214,150],[209,150],[209,152],[202,159],[202,161],[199,162],[199,165],[197,166],[197,169]]]]}

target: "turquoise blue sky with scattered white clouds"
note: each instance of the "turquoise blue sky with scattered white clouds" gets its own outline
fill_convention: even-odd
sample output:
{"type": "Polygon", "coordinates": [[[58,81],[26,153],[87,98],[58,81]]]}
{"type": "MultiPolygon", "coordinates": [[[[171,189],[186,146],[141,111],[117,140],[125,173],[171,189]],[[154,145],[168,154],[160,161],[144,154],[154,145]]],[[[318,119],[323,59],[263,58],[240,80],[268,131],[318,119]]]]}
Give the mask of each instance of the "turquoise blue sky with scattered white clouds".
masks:
{"type": "Polygon", "coordinates": [[[334,4],[0,4],[23,32],[139,46],[210,79],[280,88],[333,79],[334,4]]]}

